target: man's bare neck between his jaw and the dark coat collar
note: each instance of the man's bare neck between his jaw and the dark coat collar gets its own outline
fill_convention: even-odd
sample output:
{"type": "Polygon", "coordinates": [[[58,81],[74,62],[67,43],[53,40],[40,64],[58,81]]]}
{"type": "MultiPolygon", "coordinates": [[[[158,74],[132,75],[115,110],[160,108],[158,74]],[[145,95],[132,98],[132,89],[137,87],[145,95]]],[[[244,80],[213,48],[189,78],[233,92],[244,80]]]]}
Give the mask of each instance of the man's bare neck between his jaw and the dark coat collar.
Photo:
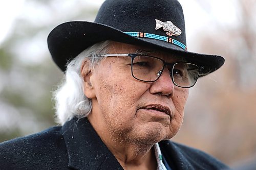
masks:
{"type": "Polygon", "coordinates": [[[98,133],[106,147],[116,157],[124,169],[156,169],[157,161],[154,143],[138,143],[123,137],[113,135],[108,127],[94,122],[93,114],[88,116],[89,122],[98,133]]]}

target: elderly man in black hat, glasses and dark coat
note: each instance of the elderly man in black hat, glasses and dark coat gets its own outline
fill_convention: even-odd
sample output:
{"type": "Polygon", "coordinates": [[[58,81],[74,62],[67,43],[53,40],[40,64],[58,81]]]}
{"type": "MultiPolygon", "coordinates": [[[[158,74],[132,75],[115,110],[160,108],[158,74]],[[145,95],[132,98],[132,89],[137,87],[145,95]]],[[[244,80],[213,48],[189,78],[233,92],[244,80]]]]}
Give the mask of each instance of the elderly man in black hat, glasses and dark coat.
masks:
{"type": "Polygon", "coordinates": [[[1,169],[223,169],[170,141],[188,88],[221,67],[187,51],[177,0],[107,0],[95,22],[71,21],[48,37],[66,79],[55,92],[62,126],[0,145],[1,169]]]}

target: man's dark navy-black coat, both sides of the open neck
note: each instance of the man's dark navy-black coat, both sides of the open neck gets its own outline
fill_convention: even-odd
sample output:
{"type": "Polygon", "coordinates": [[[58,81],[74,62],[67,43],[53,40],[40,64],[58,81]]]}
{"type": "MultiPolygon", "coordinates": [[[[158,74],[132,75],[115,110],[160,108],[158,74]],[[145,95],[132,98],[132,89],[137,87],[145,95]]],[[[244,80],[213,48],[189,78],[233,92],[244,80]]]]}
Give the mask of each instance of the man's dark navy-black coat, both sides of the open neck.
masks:
{"type": "MultiPolygon", "coordinates": [[[[160,149],[172,169],[225,169],[215,158],[164,140],[160,149]]],[[[30,136],[0,144],[0,169],[123,169],[87,118],[73,118],[30,136]]]]}

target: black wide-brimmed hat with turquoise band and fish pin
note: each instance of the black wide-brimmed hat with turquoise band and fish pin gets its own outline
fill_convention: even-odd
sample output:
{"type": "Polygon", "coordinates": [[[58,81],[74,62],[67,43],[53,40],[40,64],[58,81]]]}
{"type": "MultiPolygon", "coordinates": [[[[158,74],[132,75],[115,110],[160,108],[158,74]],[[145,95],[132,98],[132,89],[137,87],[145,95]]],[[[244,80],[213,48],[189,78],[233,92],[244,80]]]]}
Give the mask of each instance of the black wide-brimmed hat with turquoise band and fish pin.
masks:
{"type": "Polygon", "coordinates": [[[203,66],[201,76],[217,70],[225,61],[221,56],[187,51],[183,10],[177,0],[106,0],[94,22],[70,21],[54,28],[48,47],[54,62],[65,71],[69,60],[105,40],[179,54],[203,66]]]}

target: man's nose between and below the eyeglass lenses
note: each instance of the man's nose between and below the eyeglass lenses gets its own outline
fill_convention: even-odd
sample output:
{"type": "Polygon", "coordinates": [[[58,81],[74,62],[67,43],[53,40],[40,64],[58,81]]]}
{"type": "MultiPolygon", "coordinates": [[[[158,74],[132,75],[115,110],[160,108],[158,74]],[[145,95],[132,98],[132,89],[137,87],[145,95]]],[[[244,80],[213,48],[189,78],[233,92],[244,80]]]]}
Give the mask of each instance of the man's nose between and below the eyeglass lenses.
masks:
{"type": "Polygon", "coordinates": [[[150,93],[165,95],[168,98],[174,96],[174,83],[170,77],[170,72],[167,68],[164,68],[159,79],[152,83],[150,93]]]}

